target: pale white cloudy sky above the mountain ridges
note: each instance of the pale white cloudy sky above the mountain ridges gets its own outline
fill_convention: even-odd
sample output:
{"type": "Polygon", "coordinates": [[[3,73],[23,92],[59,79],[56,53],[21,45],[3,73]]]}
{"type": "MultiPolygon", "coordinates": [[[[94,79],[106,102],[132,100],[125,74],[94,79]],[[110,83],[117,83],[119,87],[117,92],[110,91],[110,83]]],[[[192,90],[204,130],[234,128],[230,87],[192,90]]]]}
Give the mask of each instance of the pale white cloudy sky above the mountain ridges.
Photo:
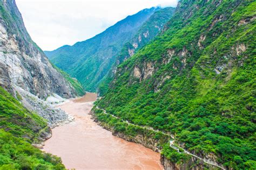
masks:
{"type": "Polygon", "coordinates": [[[178,0],[16,0],[31,38],[44,51],[92,38],[145,8],[178,0]]]}

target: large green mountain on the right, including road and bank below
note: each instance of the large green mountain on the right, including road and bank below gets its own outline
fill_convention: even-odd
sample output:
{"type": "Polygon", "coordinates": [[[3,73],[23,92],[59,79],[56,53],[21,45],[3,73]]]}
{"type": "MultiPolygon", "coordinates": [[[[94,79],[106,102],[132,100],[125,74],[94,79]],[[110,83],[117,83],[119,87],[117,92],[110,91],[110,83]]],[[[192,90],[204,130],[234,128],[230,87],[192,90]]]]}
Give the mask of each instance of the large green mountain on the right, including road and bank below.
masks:
{"type": "Polygon", "coordinates": [[[255,6],[181,0],[163,32],[117,67],[97,120],[161,150],[165,168],[255,169],[255,6]]]}

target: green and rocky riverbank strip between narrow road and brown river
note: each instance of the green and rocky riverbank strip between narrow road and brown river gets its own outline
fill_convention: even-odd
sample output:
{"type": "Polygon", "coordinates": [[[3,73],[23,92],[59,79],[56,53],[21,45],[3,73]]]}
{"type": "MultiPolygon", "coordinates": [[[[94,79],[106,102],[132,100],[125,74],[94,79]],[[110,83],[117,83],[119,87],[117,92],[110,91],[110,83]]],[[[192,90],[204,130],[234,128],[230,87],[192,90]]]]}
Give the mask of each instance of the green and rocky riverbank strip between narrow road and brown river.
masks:
{"type": "Polygon", "coordinates": [[[208,157],[200,158],[178,144],[174,144],[172,134],[123,121],[114,115],[107,114],[105,110],[98,107],[94,107],[91,113],[93,119],[100,126],[111,131],[114,136],[161,152],[161,164],[165,169],[225,169],[208,157]]]}

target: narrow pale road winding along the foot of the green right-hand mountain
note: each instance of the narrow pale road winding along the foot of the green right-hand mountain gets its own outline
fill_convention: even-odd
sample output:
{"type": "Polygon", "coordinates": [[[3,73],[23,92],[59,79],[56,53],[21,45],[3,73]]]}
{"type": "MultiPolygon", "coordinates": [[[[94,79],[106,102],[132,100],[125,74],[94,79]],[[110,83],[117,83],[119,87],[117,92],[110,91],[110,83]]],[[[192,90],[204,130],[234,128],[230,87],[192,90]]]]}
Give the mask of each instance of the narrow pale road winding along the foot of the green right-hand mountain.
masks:
{"type": "MultiPolygon", "coordinates": [[[[139,126],[139,125],[136,125],[136,124],[132,124],[132,123],[130,123],[130,122],[128,122],[128,121],[124,121],[123,119],[121,119],[121,118],[119,118],[119,117],[117,117],[117,116],[114,116],[114,115],[112,115],[112,114],[108,114],[108,113],[106,112],[106,110],[100,109],[98,106],[97,106],[96,108],[99,109],[99,110],[102,110],[104,114],[106,114],[106,115],[111,115],[112,117],[117,118],[117,119],[120,119],[122,122],[127,123],[127,124],[129,124],[129,125],[138,126],[138,127],[140,127],[140,128],[145,128],[145,129],[147,129],[147,130],[152,130],[152,131],[154,131],[154,132],[161,132],[161,131],[159,131],[159,130],[154,130],[152,127],[149,127],[149,126],[139,126]]],[[[209,160],[206,160],[206,159],[204,159],[204,158],[198,157],[197,155],[195,155],[195,154],[193,154],[193,153],[187,151],[185,148],[179,146],[179,144],[174,145],[174,143],[175,143],[175,138],[174,138],[174,136],[173,136],[172,134],[168,134],[168,133],[165,133],[165,132],[161,132],[161,133],[166,134],[167,136],[170,136],[170,137],[172,138],[172,140],[170,140],[170,147],[172,147],[174,150],[177,150],[178,152],[179,152],[180,149],[181,149],[181,150],[184,150],[184,152],[185,152],[186,154],[191,155],[192,157],[195,157],[195,158],[197,158],[197,159],[203,160],[204,163],[206,163],[206,164],[213,165],[213,166],[218,167],[218,168],[220,168],[220,169],[225,169],[223,166],[218,165],[217,162],[209,161],[209,160]]]]}

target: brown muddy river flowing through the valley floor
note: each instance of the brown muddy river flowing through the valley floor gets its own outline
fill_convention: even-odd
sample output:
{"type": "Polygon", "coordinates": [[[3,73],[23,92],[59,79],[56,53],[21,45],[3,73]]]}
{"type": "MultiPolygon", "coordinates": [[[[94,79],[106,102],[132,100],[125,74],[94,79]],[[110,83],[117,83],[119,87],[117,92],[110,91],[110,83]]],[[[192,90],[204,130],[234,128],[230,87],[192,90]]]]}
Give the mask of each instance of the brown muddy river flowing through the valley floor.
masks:
{"type": "Polygon", "coordinates": [[[163,169],[160,154],[120,139],[97,125],[89,115],[96,94],[66,102],[59,107],[75,121],[52,130],[44,151],[62,158],[71,169],[163,169]]]}

